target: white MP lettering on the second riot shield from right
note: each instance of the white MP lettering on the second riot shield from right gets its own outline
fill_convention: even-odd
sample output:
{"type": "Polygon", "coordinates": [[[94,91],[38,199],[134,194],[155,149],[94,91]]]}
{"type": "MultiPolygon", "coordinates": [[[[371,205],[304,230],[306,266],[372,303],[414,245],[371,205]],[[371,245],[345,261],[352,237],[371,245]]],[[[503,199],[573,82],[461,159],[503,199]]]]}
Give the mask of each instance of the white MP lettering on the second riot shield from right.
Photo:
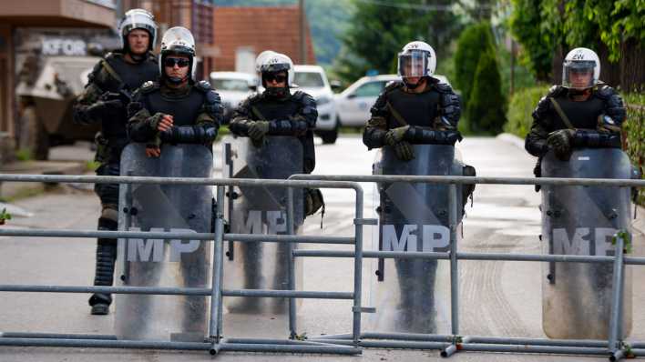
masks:
{"type": "Polygon", "coordinates": [[[443,225],[404,225],[399,233],[394,225],[381,226],[383,251],[445,251],[450,229],[443,225]]]}

